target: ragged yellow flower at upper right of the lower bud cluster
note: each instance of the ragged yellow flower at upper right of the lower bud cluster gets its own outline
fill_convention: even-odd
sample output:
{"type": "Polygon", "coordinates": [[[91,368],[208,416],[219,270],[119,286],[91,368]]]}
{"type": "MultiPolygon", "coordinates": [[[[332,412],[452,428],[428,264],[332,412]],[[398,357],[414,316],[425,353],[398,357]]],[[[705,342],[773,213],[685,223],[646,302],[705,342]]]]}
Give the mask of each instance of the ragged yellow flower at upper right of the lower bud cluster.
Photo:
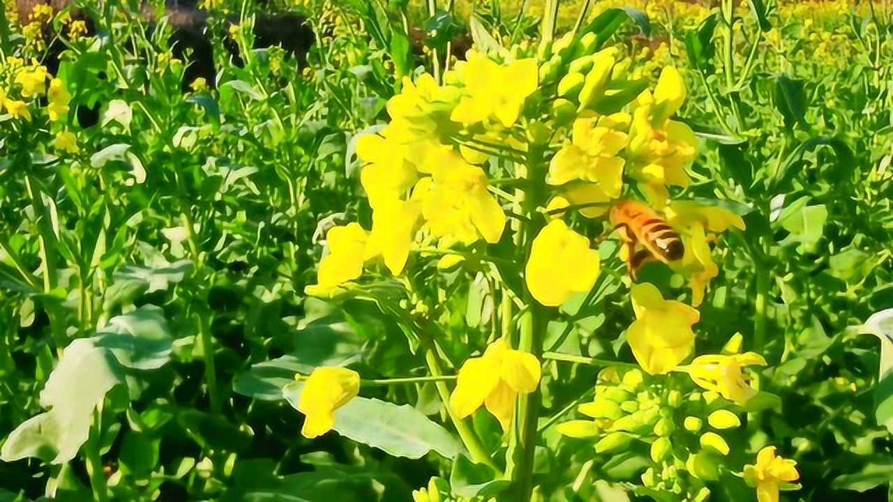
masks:
{"type": "Polygon", "coordinates": [[[750,379],[742,371],[743,367],[752,365],[765,366],[766,360],[755,352],[697,356],[689,364],[689,376],[703,389],[719,392],[722,397],[744,406],[756,395],[756,390],[750,387],[750,379]]]}

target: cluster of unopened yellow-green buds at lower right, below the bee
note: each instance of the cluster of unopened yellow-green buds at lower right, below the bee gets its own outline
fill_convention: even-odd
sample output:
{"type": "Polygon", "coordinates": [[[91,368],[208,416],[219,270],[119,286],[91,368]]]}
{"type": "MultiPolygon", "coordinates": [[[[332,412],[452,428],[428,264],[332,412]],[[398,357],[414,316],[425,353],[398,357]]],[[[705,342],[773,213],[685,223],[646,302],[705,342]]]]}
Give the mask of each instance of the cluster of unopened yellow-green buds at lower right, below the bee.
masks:
{"type": "Polygon", "coordinates": [[[650,445],[652,464],[641,475],[647,489],[680,500],[709,498],[706,481],[719,478],[730,445],[723,437],[741,426],[730,401],[714,391],[676,389],[678,381],[651,380],[638,369],[599,373],[596,398],[578,411],[590,420],[562,423],[564,435],[591,439],[597,454],[613,455],[635,441],[650,445]]]}

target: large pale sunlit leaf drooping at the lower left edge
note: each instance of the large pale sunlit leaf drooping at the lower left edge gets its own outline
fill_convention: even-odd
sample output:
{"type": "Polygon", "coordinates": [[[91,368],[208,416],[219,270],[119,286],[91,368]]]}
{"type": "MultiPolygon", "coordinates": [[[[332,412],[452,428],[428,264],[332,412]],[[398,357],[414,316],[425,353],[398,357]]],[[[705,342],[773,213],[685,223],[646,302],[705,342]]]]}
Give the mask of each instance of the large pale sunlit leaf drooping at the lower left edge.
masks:
{"type": "Polygon", "coordinates": [[[40,406],[50,411],[10,433],[0,458],[13,462],[34,456],[51,464],[69,462],[87,441],[93,410],[119,383],[120,372],[107,351],[88,339],[74,340],[40,392],[40,406]]]}

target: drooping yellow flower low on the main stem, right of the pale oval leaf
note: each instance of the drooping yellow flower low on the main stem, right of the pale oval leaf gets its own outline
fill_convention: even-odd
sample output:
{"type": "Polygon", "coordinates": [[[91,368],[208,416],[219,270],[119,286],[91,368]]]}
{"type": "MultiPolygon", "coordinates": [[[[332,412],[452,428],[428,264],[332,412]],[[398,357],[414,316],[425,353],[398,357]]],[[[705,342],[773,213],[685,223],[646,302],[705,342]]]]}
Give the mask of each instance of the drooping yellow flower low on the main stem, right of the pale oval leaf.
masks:
{"type": "Polygon", "coordinates": [[[536,390],[539,377],[536,356],[514,350],[499,339],[487,347],[483,356],[465,361],[449,404],[460,419],[484,405],[505,431],[512,424],[515,398],[519,393],[536,390]]]}

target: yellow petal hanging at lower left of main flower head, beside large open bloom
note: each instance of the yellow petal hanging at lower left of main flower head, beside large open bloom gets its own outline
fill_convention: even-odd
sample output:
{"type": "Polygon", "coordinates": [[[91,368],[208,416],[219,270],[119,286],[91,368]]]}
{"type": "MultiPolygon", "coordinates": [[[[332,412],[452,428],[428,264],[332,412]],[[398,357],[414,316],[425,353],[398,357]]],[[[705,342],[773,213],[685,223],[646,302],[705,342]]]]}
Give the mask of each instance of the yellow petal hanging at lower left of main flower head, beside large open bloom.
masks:
{"type": "Polygon", "coordinates": [[[365,258],[381,255],[390,272],[400,275],[409,258],[419,216],[421,205],[417,201],[391,199],[376,206],[365,258]]]}

